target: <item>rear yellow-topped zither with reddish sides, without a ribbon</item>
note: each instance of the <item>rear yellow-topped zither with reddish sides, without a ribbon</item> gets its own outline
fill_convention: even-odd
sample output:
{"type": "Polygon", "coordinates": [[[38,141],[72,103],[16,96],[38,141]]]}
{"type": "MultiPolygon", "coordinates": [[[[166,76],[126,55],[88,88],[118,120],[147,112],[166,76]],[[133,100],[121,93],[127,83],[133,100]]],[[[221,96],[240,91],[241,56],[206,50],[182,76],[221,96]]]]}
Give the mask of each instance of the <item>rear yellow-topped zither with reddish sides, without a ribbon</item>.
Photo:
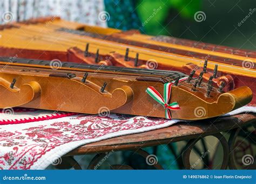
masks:
{"type": "MultiPolygon", "coordinates": [[[[240,86],[256,90],[253,51],[87,26],[58,17],[3,25],[0,30],[2,56],[178,70],[187,75],[194,69],[194,76],[205,82],[212,78],[217,88],[224,82],[224,91],[240,86]]],[[[255,103],[256,97],[251,104],[255,103]]]]}

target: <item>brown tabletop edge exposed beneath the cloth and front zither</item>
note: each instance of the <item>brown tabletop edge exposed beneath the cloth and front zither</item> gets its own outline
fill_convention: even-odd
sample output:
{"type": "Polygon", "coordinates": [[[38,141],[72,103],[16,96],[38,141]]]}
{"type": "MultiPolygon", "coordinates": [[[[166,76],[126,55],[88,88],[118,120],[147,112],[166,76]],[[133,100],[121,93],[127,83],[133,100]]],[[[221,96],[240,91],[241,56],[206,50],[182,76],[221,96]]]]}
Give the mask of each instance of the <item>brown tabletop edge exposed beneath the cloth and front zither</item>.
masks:
{"type": "Polygon", "coordinates": [[[213,135],[244,125],[256,123],[256,114],[239,114],[203,121],[177,123],[167,128],[120,136],[80,146],[66,155],[92,154],[107,151],[137,150],[141,147],[168,144],[200,136],[213,135]]]}

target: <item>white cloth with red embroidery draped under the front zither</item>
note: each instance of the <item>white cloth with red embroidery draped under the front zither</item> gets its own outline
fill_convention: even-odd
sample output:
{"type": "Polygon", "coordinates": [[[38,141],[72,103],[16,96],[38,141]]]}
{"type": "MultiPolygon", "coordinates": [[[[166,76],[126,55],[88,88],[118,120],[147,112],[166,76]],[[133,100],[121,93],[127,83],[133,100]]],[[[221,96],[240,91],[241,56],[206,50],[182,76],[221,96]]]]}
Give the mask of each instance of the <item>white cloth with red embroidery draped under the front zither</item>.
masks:
{"type": "MultiPolygon", "coordinates": [[[[243,112],[256,113],[256,108],[243,107],[225,116],[243,112]]],[[[78,146],[165,128],[180,121],[118,114],[100,117],[21,108],[11,113],[0,111],[0,169],[45,169],[53,162],[61,161],[62,155],[78,146]]]]}

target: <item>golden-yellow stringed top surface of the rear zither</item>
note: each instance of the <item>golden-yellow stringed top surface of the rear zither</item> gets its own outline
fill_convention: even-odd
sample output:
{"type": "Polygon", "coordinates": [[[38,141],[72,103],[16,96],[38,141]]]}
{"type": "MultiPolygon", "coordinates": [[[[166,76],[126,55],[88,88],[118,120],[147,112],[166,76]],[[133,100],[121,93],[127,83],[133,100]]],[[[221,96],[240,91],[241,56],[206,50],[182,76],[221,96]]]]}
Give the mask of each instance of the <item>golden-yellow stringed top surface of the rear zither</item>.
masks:
{"type": "Polygon", "coordinates": [[[210,69],[213,69],[214,65],[218,64],[219,70],[222,72],[242,74],[245,76],[255,75],[255,69],[253,67],[242,67],[242,61],[246,59],[255,63],[256,60],[253,58],[253,51],[248,51],[246,53],[247,55],[241,55],[237,50],[230,52],[230,49],[226,47],[212,47],[210,45],[209,48],[212,48],[212,50],[209,53],[209,48],[206,47],[208,49],[205,49],[204,46],[197,48],[184,44],[165,43],[164,41],[152,40],[153,37],[143,34],[134,32],[126,34],[125,32],[120,32],[120,30],[114,31],[113,29],[86,26],[60,19],[54,19],[49,24],[47,21],[43,22],[42,19],[38,24],[16,23],[15,26],[11,29],[1,31],[1,46],[65,52],[70,47],[75,46],[84,50],[85,44],[90,43],[90,51],[92,53],[96,53],[97,49],[99,49],[101,54],[108,54],[115,51],[122,55],[125,54],[126,47],[129,47],[129,55],[132,58],[135,57],[136,53],[139,53],[140,58],[146,61],[154,59],[159,64],[182,67],[190,62],[200,66],[203,57],[208,58],[208,68],[210,69]],[[78,31],[85,30],[86,34],[77,35],[69,32],[56,31],[62,27],[78,31]],[[44,34],[45,32],[47,34],[44,34]],[[222,57],[222,59],[218,57],[222,57]],[[230,67],[231,65],[232,67],[230,67]]]}

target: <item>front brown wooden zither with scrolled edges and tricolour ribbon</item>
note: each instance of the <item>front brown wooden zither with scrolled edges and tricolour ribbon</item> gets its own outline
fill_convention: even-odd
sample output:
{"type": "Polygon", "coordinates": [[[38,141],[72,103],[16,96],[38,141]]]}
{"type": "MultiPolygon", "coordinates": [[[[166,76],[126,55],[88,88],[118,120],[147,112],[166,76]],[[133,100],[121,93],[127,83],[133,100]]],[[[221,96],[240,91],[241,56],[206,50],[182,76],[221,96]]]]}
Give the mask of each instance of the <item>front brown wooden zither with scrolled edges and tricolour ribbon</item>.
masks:
{"type": "Polygon", "coordinates": [[[226,93],[202,77],[170,70],[84,65],[31,59],[0,59],[0,108],[205,119],[250,103],[252,91],[226,93]]]}

